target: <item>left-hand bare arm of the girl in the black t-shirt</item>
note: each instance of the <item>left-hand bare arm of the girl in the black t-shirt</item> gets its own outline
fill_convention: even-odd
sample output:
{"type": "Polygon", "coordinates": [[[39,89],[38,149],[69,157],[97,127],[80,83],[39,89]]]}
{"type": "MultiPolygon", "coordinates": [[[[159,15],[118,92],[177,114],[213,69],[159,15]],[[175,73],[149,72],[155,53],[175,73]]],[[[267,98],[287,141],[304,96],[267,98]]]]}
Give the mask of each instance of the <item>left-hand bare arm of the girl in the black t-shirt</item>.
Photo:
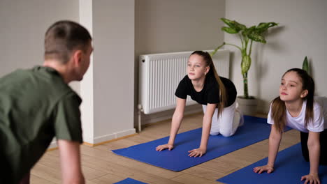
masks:
{"type": "Polygon", "coordinates": [[[157,151],[162,151],[166,148],[168,148],[169,150],[173,149],[175,137],[177,135],[178,130],[180,129],[180,123],[182,122],[182,118],[184,115],[185,104],[186,104],[186,99],[177,98],[176,109],[171,121],[170,137],[169,137],[168,144],[157,146],[156,148],[157,151]]]}

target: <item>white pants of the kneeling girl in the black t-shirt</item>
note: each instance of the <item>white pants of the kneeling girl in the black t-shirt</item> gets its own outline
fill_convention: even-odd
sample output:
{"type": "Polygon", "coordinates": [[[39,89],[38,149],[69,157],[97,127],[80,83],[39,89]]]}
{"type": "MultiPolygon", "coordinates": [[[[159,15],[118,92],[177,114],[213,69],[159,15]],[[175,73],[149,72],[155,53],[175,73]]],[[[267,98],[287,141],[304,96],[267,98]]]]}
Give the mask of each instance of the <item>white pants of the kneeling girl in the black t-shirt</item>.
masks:
{"type": "MultiPolygon", "coordinates": [[[[210,135],[219,135],[230,137],[240,125],[243,125],[244,118],[236,107],[236,102],[229,107],[225,107],[218,118],[218,108],[212,116],[210,135]]],[[[202,105],[203,113],[207,110],[207,105],[202,105]]]]}

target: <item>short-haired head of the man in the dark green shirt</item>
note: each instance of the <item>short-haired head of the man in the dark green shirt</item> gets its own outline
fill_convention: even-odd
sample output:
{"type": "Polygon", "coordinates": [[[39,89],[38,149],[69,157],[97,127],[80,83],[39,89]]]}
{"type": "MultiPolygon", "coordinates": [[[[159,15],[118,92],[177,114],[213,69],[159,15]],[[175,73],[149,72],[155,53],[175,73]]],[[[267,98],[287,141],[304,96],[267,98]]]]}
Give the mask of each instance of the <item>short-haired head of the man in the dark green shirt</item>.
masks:
{"type": "Polygon", "coordinates": [[[45,33],[44,49],[45,62],[68,69],[64,71],[69,73],[68,82],[81,80],[89,68],[92,37],[85,27],[76,22],[55,22],[45,33]]]}

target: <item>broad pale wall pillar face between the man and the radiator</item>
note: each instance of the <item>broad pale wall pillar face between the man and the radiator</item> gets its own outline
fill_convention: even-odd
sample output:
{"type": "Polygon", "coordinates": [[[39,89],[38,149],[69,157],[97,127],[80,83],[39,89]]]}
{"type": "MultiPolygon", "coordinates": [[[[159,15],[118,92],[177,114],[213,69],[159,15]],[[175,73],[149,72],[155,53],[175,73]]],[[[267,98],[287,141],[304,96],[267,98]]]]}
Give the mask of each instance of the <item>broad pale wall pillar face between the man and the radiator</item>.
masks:
{"type": "Polygon", "coordinates": [[[94,139],[131,135],[133,128],[134,1],[93,1],[94,139]]]}

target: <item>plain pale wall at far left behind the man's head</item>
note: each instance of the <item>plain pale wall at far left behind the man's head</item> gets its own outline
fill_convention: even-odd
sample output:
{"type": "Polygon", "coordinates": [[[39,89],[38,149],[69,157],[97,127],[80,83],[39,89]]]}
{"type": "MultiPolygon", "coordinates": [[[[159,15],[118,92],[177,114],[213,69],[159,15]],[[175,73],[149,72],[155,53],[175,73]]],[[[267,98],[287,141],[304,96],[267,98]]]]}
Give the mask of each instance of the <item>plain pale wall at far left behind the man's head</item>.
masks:
{"type": "Polygon", "coordinates": [[[0,77],[17,68],[41,65],[46,29],[57,20],[78,21],[77,5],[78,0],[1,0],[0,77]]]}

